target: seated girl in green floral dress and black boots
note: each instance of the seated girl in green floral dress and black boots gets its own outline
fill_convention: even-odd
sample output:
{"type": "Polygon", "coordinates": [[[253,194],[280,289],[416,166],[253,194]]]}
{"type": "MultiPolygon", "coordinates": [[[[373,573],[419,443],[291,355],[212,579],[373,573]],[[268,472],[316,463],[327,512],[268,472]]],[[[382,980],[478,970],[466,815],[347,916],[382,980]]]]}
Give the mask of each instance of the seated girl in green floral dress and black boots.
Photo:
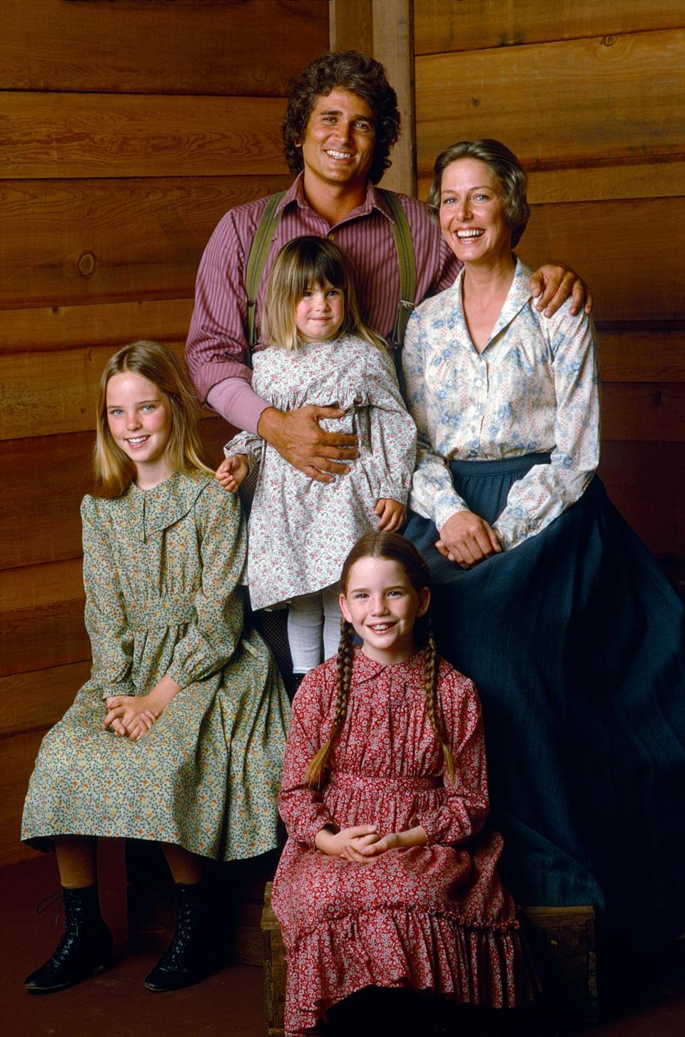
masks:
{"type": "Polygon", "coordinates": [[[202,978],[201,859],[277,843],[289,704],[266,645],[244,634],[240,504],[202,461],[195,398],[157,342],[119,349],[98,401],[97,489],[81,505],[90,679],[46,735],[22,839],[57,854],[64,934],[25,982],[49,993],[110,963],[98,836],[161,844],[173,940],[145,979],[202,978]]]}

